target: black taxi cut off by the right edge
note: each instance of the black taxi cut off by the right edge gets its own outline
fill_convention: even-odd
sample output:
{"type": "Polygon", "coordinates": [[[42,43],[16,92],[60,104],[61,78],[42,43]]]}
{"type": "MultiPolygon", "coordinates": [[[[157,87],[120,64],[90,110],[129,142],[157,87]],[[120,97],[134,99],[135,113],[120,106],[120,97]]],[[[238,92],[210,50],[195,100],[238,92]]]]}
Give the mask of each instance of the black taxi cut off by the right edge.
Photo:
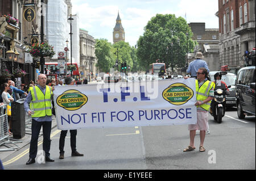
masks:
{"type": "Polygon", "coordinates": [[[255,66],[238,70],[236,91],[238,117],[255,116],[255,66]]]}

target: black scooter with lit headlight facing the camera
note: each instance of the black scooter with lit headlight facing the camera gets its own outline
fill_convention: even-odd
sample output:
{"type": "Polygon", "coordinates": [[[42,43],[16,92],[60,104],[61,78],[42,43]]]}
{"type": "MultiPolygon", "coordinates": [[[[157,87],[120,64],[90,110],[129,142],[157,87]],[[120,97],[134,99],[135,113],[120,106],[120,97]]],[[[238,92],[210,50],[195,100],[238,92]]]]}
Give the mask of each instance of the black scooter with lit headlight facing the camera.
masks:
{"type": "MultiPolygon", "coordinates": [[[[231,86],[228,86],[230,88],[231,86]]],[[[226,95],[229,95],[228,88],[218,88],[216,87],[214,90],[214,98],[212,103],[210,104],[210,115],[214,117],[218,123],[222,122],[222,117],[225,115],[226,110],[226,95]]]]}

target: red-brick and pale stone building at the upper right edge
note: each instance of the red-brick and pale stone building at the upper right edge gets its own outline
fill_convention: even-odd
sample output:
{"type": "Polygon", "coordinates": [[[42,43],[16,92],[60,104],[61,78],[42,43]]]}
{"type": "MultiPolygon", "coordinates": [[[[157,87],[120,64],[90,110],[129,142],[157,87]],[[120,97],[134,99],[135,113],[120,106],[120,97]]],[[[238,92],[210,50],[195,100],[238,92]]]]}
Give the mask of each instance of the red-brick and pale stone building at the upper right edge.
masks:
{"type": "Polygon", "coordinates": [[[243,54],[255,47],[255,0],[218,0],[220,66],[236,72],[243,54]]]}

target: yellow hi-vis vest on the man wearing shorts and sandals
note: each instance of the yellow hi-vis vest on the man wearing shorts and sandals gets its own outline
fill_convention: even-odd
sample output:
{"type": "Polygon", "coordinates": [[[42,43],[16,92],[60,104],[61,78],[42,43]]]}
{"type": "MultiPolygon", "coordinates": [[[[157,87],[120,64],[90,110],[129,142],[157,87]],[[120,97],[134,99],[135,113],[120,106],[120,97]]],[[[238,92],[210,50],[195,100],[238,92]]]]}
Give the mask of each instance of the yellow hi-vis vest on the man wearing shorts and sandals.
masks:
{"type": "MultiPolygon", "coordinates": [[[[201,87],[199,88],[199,82],[196,79],[196,100],[203,101],[203,100],[207,99],[208,95],[209,95],[209,92],[212,89],[212,87],[214,89],[214,87],[215,87],[215,83],[214,82],[205,81],[203,83],[203,85],[201,85],[201,87]]],[[[200,105],[200,107],[203,108],[206,111],[209,111],[210,102],[212,102],[212,101],[210,100],[209,102],[200,105]]]]}

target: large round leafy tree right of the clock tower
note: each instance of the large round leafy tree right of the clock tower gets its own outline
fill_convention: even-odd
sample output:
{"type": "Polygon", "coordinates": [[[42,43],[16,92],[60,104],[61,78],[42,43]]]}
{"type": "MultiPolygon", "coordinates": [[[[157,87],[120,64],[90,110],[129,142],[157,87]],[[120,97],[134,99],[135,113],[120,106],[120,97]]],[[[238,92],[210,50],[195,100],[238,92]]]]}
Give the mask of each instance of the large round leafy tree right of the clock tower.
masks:
{"type": "Polygon", "coordinates": [[[192,31],[184,18],[176,18],[174,14],[156,14],[144,28],[143,36],[139,37],[137,57],[139,64],[148,70],[148,66],[160,59],[170,65],[185,66],[188,50],[192,51],[195,42],[191,39],[192,31]],[[173,44],[173,46],[171,46],[173,44]],[[168,48],[167,48],[168,47],[168,48]]]}

